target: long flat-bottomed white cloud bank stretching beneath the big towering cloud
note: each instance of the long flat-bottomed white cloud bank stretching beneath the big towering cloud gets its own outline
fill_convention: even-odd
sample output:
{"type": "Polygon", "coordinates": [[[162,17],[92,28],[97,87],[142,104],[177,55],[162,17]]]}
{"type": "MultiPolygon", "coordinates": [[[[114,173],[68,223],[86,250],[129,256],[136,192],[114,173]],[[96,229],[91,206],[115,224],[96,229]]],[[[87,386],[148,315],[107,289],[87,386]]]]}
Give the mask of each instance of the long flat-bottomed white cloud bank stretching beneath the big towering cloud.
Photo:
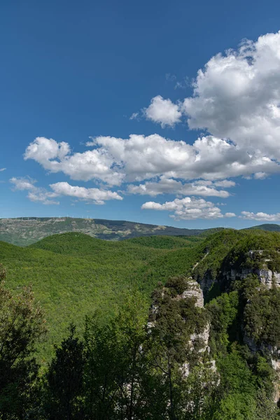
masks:
{"type": "MultiPolygon", "coordinates": [[[[128,139],[96,137],[86,144],[92,150],[71,153],[69,144],[38,137],[25,152],[50,172],[63,172],[71,179],[102,181],[109,186],[165,176],[191,181],[222,180],[216,186],[229,188],[227,177],[279,173],[280,165],[259,151],[247,153],[230,141],[206,136],[193,145],[165,139],[158,134],[132,134],[128,139]]],[[[257,175],[258,176],[258,175],[257,175]]]]}

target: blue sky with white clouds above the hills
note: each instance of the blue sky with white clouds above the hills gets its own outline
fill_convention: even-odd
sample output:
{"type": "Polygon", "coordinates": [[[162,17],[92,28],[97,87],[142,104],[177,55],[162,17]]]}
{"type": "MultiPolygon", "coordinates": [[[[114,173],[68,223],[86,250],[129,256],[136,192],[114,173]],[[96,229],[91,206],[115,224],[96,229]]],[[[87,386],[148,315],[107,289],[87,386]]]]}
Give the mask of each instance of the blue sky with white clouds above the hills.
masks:
{"type": "Polygon", "coordinates": [[[278,1],[0,12],[0,217],[278,223],[278,1]]]}

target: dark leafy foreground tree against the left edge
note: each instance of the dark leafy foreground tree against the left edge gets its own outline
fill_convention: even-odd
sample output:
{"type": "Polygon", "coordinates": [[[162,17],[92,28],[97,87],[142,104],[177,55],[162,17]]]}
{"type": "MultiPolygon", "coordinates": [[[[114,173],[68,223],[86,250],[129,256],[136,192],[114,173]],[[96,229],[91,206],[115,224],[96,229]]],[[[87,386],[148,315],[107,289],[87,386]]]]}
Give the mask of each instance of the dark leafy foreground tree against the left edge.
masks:
{"type": "Polygon", "coordinates": [[[1,419],[21,419],[31,404],[38,372],[34,352],[46,326],[31,286],[13,296],[5,276],[0,265],[0,414],[1,419]]]}

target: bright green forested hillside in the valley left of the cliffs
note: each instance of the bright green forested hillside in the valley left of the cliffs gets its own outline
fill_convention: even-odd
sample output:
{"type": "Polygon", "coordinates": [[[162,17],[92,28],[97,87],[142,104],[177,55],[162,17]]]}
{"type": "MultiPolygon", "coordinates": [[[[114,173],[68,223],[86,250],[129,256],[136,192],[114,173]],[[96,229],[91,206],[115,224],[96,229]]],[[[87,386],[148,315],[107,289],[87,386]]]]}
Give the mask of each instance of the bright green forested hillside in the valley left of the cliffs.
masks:
{"type": "MultiPolygon", "coordinates": [[[[158,281],[187,272],[193,264],[189,250],[196,244],[173,237],[114,242],[66,233],[27,248],[1,242],[0,255],[11,290],[33,284],[46,312],[51,344],[62,338],[71,321],[79,330],[85,315],[97,309],[105,321],[132,290],[148,297],[158,281]]],[[[49,353],[50,345],[44,345],[49,353]]]]}

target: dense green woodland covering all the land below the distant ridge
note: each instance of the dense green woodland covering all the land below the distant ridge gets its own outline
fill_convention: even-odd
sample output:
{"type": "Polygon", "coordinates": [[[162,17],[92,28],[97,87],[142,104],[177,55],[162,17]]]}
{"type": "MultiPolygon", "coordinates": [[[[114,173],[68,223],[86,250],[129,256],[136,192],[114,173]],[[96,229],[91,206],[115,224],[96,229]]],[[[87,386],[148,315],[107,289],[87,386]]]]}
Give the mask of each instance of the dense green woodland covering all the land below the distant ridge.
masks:
{"type": "Polygon", "coordinates": [[[255,271],[279,269],[279,233],[70,233],[0,249],[1,419],[280,418],[280,289],[255,271]],[[190,276],[212,283],[204,307],[181,298],[190,276]]]}

